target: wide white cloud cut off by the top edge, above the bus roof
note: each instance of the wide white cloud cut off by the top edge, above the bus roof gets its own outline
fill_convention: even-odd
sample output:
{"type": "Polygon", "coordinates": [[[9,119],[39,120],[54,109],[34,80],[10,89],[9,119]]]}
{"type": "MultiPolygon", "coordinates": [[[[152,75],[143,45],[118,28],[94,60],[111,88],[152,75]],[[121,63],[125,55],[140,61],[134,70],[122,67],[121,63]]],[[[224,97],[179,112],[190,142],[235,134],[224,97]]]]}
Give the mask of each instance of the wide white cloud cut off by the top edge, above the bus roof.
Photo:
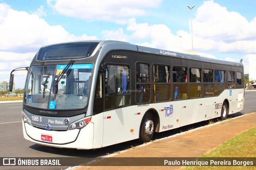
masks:
{"type": "Polygon", "coordinates": [[[47,0],[48,6],[58,14],[86,21],[124,20],[149,14],[148,8],[156,8],[162,0],[47,0]]]}

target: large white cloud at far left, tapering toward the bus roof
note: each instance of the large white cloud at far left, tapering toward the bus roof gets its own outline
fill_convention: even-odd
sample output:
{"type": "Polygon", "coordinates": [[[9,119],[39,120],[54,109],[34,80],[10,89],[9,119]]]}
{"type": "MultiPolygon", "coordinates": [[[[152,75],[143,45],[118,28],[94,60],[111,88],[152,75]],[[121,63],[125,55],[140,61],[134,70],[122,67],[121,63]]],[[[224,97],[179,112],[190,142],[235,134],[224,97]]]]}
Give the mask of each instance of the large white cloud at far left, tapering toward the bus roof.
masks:
{"type": "Polygon", "coordinates": [[[0,9],[4,10],[0,15],[0,51],[35,52],[51,43],[96,39],[87,35],[76,37],[61,25],[49,25],[35,14],[13,10],[4,3],[0,4],[0,9]]]}

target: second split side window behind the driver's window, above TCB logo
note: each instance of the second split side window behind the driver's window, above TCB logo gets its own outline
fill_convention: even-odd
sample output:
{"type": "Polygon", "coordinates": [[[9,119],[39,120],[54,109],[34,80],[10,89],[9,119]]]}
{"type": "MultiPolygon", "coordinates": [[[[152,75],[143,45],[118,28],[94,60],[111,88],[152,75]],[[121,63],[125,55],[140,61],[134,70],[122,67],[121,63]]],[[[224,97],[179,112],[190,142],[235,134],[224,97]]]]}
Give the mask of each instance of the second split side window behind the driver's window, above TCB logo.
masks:
{"type": "Polygon", "coordinates": [[[171,100],[170,66],[153,65],[153,102],[171,100]]]}

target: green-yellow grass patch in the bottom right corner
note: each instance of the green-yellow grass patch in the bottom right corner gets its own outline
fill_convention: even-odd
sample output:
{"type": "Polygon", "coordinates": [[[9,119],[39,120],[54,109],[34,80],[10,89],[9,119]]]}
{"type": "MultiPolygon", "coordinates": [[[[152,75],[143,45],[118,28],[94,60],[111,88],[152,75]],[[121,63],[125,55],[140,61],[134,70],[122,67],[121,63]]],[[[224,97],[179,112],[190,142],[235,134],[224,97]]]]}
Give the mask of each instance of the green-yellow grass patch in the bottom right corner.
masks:
{"type": "MultiPolygon", "coordinates": [[[[256,127],[237,135],[236,137],[223,143],[211,152],[200,156],[204,158],[234,158],[234,157],[249,157],[248,160],[254,160],[256,157],[256,127]],[[251,158],[251,159],[250,159],[251,158]]],[[[200,158],[198,159],[200,160],[200,158]]],[[[224,160],[224,159],[221,159],[224,160]]],[[[226,159],[227,160],[227,159],[226,159]]],[[[233,160],[233,159],[231,159],[233,160]]],[[[239,159],[237,159],[239,160],[239,159]]],[[[254,166],[186,166],[184,170],[237,170],[255,169],[254,166]]]]}

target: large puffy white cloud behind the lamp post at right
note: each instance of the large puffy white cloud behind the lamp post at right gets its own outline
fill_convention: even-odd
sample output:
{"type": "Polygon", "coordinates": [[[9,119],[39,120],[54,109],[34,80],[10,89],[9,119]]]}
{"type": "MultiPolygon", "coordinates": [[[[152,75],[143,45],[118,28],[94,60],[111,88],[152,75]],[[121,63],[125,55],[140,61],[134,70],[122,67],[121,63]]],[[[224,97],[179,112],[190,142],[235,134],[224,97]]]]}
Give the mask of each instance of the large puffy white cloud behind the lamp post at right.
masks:
{"type": "Polygon", "coordinates": [[[229,12],[213,0],[205,1],[193,19],[195,47],[211,40],[212,50],[220,53],[256,52],[256,17],[246,20],[238,12],[229,12]]]}

